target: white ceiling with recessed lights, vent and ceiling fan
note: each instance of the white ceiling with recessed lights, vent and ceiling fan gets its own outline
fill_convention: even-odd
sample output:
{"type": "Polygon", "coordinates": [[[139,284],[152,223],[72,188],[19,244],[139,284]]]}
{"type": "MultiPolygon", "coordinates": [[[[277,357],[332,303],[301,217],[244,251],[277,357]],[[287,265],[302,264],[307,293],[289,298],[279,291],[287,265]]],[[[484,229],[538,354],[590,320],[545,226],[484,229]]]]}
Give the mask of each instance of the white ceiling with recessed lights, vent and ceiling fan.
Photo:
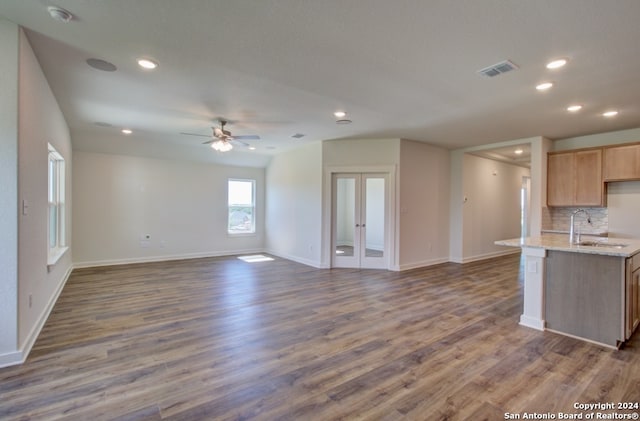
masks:
{"type": "Polygon", "coordinates": [[[80,150],[260,165],[326,139],[459,148],[640,127],[638,0],[0,0],[0,15],[28,29],[80,150]],[[51,4],[74,19],[51,19],[51,4]],[[141,70],[140,56],[159,68],[141,70]],[[569,64],[547,70],[557,57],[569,64]],[[506,59],[519,70],[477,73],[506,59]],[[583,110],[566,112],[575,102],[583,110]],[[620,114],[600,116],[609,108],[620,114]],[[336,110],[353,123],[337,125],[336,110]],[[180,134],[220,117],[260,135],[257,149],[221,155],[180,134]]]}

